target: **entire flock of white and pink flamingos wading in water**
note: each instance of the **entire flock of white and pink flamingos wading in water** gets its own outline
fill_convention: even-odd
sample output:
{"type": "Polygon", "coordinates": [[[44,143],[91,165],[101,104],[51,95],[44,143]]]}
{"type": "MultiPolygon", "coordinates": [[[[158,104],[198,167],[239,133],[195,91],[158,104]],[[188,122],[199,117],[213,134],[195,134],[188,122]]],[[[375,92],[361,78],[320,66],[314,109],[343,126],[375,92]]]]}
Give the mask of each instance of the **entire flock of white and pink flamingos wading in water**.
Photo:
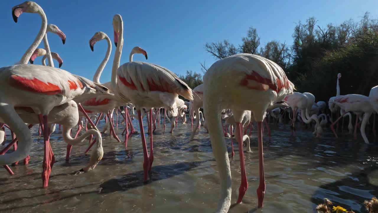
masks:
{"type": "MultiPolygon", "coordinates": [[[[265,124],[270,139],[269,117],[273,118],[274,124],[279,125],[287,121],[286,114],[288,114],[293,135],[296,134],[297,120],[308,127],[314,124],[315,138],[321,139],[328,119],[332,122],[330,128],[337,138],[339,121],[348,116],[348,129],[349,133],[352,133],[352,116],[355,115],[354,138],[356,139],[359,127],[365,143],[369,144],[365,128],[369,123],[370,116],[374,114],[373,133],[375,134],[378,86],[371,89],[369,96],[340,95],[341,74],[338,74],[336,96],[329,99],[330,113],[325,114],[327,103],[315,102],[314,95],[309,92],[294,92],[294,84],[288,80],[285,72],[276,63],[258,55],[237,54],[212,64],[203,76],[203,84],[191,89],[172,71],[162,66],[133,61],[134,54],[143,54],[146,60],[148,59],[147,51],[141,47],[134,47],[130,52],[129,61],[121,64],[124,26],[119,14],[116,14],[112,20],[113,42],[116,50],[111,79],[106,83],[100,83],[100,76],[110,60],[112,51],[112,41],[107,34],[98,31],[89,39],[92,51],[95,50],[96,42],[102,40],[107,42],[107,50],[93,80],[88,80],[59,69],[62,67],[63,60],[58,53],[51,52],[47,32],[57,34],[63,44],[65,44],[66,36],[56,25],[47,23],[43,9],[31,1],[16,5],[12,8],[14,22],[17,23],[22,13],[39,14],[42,24],[36,38],[21,59],[14,65],[0,68],[0,80],[2,81],[0,83],[0,144],[3,143],[6,136],[4,127],[9,128],[15,134],[12,141],[1,151],[0,164],[11,175],[13,172],[9,164],[15,164],[21,160],[24,164],[28,164],[29,158],[33,157],[29,156],[33,146],[33,138],[29,129],[38,124],[44,143],[43,188],[48,187],[51,169],[55,162],[55,155],[50,146],[50,134],[54,132],[55,125],[59,124],[59,129],[60,126],[63,127],[62,138],[67,143],[66,161],[70,158],[72,146],[82,143],[89,136],[90,146],[86,152],[90,149],[93,150],[90,162],[81,169],[83,172],[88,172],[95,169],[104,155],[102,133],[107,130],[107,127],[110,129],[109,134],[121,143],[114,128],[119,124],[118,113],[123,117],[121,123],[125,123],[125,141],[122,143],[124,147],[127,147],[128,138],[136,132],[132,119],[137,119],[139,122],[144,157],[143,182],[148,182],[152,175],[153,134],[156,129],[155,123],[160,122],[160,113],[164,111],[164,131],[167,116],[172,117],[171,121],[169,118],[168,120],[171,122],[169,132],[173,133],[179,117],[182,118],[182,124],[186,124],[188,111],[192,131],[188,140],[195,139],[196,130],[200,130],[200,120],[202,119],[203,126],[208,130],[219,170],[220,193],[216,210],[219,213],[228,212],[231,206],[231,169],[226,138],[231,138],[231,157],[234,157],[233,137],[237,141],[239,150],[243,150],[243,143],[246,142],[246,151],[251,152],[249,136],[254,128],[254,122],[257,122],[257,156],[259,159],[258,208],[263,206],[266,188],[263,129],[265,124]],[[42,41],[44,48],[38,48],[42,41]],[[42,66],[33,64],[39,56],[43,56],[42,66]],[[46,58],[47,65],[45,64],[46,58]],[[54,67],[53,60],[58,62],[59,68],[54,67]],[[12,91],[12,93],[8,91],[12,91]],[[186,101],[180,99],[180,96],[184,97],[186,101]],[[120,107],[124,111],[121,111],[120,107]],[[203,108],[203,112],[200,110],[201,108],[203,108]],[[134,114],[134,109],[136,109],[136,114],[134,114]],[[113,115],[114,111],[116,116],[113,115]],[[335,121],[333,114],[337,116],[335,121]],[[145,115],[148,122],[149,150],[143,129],[145,115]],[[204,118],[204,116],[206,117],[204,118]],[[79,136],[81,129],[84,129],[83,117],[86,131],[79,136]],[[114,117],[116,117],[116,121],[114,121],[114,117]],[[361,123],[359,123],[359,118],[361,123]],[[106,121],[102,132],[96,127],[101,119],[106,121]],[[227,127],[227,125],[229,126],[227,127]],[[73,138],[71,130],[76,126],[78,130],[73,138]],[[248,129],[249,135],[247,134],[248,129]],[[92,148],[94,144],[96,146],[92,148]],[[7,153],[12,146],[14,152],[7,153]]],[[[343,124],[344,122],[342,122],[342,129],[343,124]]],[[[248,190],[243,151],[239,152],[239,158],[241,184],[237,203],[243,201],[248,190]]]]}

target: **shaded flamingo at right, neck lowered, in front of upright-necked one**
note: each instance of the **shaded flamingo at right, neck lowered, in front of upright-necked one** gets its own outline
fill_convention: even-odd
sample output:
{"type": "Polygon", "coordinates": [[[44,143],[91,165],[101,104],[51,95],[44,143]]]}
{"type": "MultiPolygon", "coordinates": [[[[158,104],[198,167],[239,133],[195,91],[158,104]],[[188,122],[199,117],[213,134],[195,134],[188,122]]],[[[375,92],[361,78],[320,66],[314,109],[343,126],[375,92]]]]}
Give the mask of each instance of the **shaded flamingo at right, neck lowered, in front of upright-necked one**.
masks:
{"type": "MultiPolygon", "coordinates": [[[[372,97],[373,97],[373,94],[372,94],[372,97]]],[[[338,107],[342,109],[342,115],[335,122],[331,124],[331,130],[333,134],[335,134],[336,138],[338,138],[338,136],[333,126],[336,124],[336,122],[338,122],[341,119],[341,117],[344,116],[345,112],[353,112],[357,115],[355,132],[354,132],[354,137],[355,139],[357,139],[358,115],[361,113],[365,113],[360,131],[361,131],[362,137],[364,138],[365,143],[369,144],[369,140],[367,139],[366,134],[365,134],[365,126],[366,126],[367,120],[369,120],[370,118],[370,115],[374,112],[374,109],[372,105],[370,104],[371,103],[370,98],[367,96],[358,95],[358,94],[348,94],[345,96],[336,97],[336,99],[334,99],[331,103],[335,103],[338,107]]]]}

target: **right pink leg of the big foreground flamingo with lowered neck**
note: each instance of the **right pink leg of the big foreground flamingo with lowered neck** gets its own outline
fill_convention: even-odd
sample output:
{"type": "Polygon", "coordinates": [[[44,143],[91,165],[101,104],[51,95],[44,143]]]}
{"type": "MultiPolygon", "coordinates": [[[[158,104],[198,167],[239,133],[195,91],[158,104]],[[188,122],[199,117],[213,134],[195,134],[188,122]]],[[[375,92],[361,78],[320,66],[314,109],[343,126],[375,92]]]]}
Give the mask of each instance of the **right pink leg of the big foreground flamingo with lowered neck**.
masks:
{"type": "Polygon", "coordinates": [[[259,187],[257,188],[257,199],[258,205],[257,208],[261,208],[264,201],[265,195],[265,177],[264,177],[264,157],[262,151],[262,131],[261,131],[262,122],[257,122],[257,132],[259,132],[258,136],[258,149],[259,149],[259,174],[260,174],[260,183],[259,187]]]}

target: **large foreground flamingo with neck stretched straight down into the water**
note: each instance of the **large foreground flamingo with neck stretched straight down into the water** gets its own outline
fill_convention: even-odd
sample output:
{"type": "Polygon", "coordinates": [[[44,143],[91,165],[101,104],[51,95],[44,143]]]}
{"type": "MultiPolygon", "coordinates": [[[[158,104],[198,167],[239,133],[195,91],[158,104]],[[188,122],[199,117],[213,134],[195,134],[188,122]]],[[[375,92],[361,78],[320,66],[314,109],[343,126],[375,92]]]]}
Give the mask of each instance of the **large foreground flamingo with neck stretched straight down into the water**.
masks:
{"type": "MultiPolygon", "coordinates": [[[[235,135],[242,144],[242,126],[244,110],[252,110],[257,121],[260,184],[257,188],[258,207],[262,207],[265,194],[265,178],[262,153],[262,121],[266,110],[273,103],[282,101],[292,94],[294,85],[285,72],[273,61],[257,55],[237,54],[215,62],[203,76],[203,108],[211,139],[215,160],[220,175],[220,197],[216,212],[226,213],[231,204],[231,171],[225,138],[219,116],[222,109],[232,109],[235,117],[235,135]],[[249,98],[246,99],[245,97],[249,98]]],[[[242,149],[242,148],[241,148],[242,149]]],[[[242,184],[237,202],[242,202],[248,188],[246,180],[244,154],[240,155],[242,184]]]]}

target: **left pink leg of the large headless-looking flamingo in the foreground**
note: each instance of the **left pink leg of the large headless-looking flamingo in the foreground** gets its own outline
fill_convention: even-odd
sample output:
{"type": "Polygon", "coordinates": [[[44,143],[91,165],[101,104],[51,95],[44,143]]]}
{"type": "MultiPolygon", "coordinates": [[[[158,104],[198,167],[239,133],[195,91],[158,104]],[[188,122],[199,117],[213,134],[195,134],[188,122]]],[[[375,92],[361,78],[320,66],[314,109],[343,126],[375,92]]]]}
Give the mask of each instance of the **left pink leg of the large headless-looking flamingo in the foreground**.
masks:
{"type": "Polygon", "coordinates": [[[247,182],[247,175],[245,173],[245,164],[244,164],[244,148],[243,148],[243,127],[242,124],[236,123],[236,130],[235,130],[235,136],[239,137],[239,158],[240,158],[240,171],[242,175],[242,183],[239,187],[239,197],[237,199],[237,203],[240,204],[243,200],[243,197],[245,195],[245,192],[248,189],[248,182],[247,182]]]}

